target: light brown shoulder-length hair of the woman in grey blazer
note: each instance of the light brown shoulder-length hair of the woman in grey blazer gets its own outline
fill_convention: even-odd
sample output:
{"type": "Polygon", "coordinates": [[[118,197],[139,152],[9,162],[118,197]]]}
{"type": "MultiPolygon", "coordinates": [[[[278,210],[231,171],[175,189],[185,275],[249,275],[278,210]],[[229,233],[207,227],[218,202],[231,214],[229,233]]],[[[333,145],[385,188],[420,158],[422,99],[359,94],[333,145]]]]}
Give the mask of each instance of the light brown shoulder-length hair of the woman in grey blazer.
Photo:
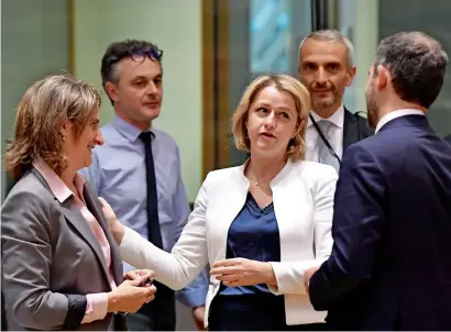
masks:
{"type": "Polygon", "coordinates": [[[48,76],[33,84],[18,106],[14,136],[7,147],[7,171],[18,180],[41,156],[59,175],[67,167],[59,132],[63,123],[72,121],[78,139],[97,108],[99,89],[72,75],[48,76]]]}

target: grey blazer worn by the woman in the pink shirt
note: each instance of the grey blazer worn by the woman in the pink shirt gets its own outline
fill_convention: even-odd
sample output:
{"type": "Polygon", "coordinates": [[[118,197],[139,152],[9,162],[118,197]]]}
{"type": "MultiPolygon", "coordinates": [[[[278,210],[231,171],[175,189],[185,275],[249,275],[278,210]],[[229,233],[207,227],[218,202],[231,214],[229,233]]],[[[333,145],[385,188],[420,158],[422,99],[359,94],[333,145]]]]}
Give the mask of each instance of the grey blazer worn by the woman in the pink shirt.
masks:
{"type": "MultiPolygon", "coordinates": [[[[85,201],[111,247],[117,285],[122,259],[101,203],[85,185],[85,201]]],[[[11,189],[1,210],[3,296],[11,330],[127,329],[122,316],[80,324],[86,295],[111,290],[105,256],[88,222],[70,197],[63,203],[33,167],[11,189]]]]}

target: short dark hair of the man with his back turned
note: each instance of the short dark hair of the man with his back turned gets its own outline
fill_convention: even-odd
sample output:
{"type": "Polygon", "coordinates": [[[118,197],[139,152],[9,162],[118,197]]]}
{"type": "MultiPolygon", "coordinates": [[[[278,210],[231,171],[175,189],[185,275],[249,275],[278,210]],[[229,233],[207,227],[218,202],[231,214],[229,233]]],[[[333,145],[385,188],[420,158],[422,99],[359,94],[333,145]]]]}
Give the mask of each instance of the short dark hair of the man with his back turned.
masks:
{"type": "Polygon", "coordinates": [[[399,32],[381,41],[375,75],[377,65],[389,70],[400,99],[429,108],[443,85],[448,55],[438,41],[422,32],[399,32]]]}

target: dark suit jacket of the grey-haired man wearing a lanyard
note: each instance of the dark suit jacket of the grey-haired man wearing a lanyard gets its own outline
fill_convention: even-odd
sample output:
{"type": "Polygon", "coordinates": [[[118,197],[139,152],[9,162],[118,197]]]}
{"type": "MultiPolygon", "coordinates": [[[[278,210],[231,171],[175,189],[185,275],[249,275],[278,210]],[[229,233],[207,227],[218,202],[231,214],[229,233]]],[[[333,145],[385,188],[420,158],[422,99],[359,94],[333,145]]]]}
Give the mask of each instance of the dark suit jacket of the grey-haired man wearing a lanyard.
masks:
{"type": "Polygon", "coordinates": [[[374,130],[367,125],[365,118],[359,113],[351,113],[344,108],[343,121],[343,153],[353,143],[362,141],[374,134],[374,130]]]}

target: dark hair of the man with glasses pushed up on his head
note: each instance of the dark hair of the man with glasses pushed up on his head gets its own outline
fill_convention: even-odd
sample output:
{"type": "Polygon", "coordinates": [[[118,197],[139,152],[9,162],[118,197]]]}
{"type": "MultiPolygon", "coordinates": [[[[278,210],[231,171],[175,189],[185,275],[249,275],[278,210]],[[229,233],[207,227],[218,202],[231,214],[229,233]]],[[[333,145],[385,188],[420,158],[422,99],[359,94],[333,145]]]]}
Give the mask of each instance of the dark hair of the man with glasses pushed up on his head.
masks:
{"type": "MultiPolygon", "coordinates": [[[[103,89],[107,81],[116,82],[118,80],[118,78],[116,77],[116,68],[121,59],[131,57],[132,54],[135,53],[148,53],[154,51],[156,51],[157,53],[161,52],[158,46],[146,41],[125,40],[121,42],[111,43],[103,54],[102,64],[100,68],[103,89]]],[[[158,63],[160,65],[162,65],[162,58],[158,59],[158,63]]],[[[113,104],[111,98],[110,101],[111,104],[113,104]]]]}

